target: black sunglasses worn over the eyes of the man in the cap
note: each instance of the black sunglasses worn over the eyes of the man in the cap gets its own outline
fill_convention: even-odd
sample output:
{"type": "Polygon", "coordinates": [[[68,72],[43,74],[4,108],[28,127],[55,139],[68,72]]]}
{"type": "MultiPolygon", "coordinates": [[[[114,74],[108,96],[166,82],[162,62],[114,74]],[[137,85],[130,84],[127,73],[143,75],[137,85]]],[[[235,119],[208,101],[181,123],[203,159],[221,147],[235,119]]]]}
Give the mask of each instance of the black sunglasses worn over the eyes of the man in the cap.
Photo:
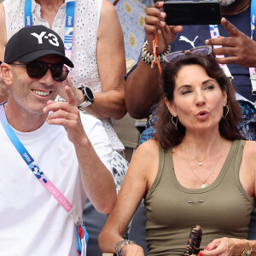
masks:
{"type": "Polygon", "coordinates": [[[41,79],[47,73],[51,72],[52,78],[57,82],[67,79],[68,69],[63,64],[47,63],[43,61],[32,61],[26,64],[10,63],[9,65],[26,66],[26,73],[32,79],[41,79]]]}

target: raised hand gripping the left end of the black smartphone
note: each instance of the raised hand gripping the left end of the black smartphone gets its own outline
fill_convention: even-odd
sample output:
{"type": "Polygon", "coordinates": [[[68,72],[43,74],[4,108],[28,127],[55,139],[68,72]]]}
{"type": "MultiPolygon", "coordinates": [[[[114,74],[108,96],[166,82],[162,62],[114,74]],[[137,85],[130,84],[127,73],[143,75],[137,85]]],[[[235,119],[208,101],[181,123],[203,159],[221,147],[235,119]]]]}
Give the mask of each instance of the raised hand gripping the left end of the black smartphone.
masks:
{"type": "Polygon", "coordinates": [[[148,51],[153,52],[152,42],[154,36],[157,35],[158,49],[157,54],[160,55],[175,40],[178,32],[183,30],[183,26],[167,26],[166,13],[161,10],[164,2],[157,2],[154,7],[147,9],[145,17],[145,33],[148,40],[148,51]]]}

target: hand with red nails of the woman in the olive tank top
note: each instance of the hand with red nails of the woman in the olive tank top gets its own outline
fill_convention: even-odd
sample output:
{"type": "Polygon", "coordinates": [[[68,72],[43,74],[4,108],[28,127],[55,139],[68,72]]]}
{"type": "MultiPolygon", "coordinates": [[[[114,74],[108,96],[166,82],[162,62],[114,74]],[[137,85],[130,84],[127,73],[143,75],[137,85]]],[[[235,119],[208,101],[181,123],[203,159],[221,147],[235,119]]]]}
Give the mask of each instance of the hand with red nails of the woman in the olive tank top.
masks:
{"type": "Polygon", "coordinates": [[[209,243],[207,247],[201,251],[201,256],[241,255],[245,246],[245,241],[241,239],[223,237],[220,239],[215,239],[209,243]]]}

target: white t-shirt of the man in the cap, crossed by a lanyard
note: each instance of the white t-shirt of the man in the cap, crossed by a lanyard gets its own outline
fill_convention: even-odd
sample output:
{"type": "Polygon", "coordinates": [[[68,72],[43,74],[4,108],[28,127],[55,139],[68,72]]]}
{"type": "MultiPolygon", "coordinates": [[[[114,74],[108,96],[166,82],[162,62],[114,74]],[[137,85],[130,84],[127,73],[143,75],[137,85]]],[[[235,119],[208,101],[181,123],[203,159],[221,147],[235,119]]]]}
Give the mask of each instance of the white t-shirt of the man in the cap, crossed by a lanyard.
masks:
{"type": "MultiPolygon", "coordinates": [[[[0,106],[0,116],[3,111],[0,106]]],[[[112,149],[102,122],[86,114],[81,114],[81,119],[96,154],[110,170],[112,149]]],[[[44,123],[37,131],[15,133],[82,218],[86,195],[67,131],[63,126],[44,123]]],[[[1,123],[0,177],[0,255],[79,255],[73,219],[35,177],[1,123]]]]}

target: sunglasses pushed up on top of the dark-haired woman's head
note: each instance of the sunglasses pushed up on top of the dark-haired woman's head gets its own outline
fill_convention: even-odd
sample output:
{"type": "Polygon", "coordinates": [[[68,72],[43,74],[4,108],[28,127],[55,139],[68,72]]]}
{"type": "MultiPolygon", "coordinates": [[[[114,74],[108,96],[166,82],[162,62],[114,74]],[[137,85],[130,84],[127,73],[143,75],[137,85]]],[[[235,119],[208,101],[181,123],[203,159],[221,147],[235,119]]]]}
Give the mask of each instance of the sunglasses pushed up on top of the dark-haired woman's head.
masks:
{"type": "Polygon", "coordinates": [[[199,46],[192,49],[185,49],[180,51],[174,51],[166,56],[164,56],[164,61],[170,63],[171,61],[182,60],[186,55],[201,55],[206,56],[212,53],[212,46],[205,45],[199,46]]]}

